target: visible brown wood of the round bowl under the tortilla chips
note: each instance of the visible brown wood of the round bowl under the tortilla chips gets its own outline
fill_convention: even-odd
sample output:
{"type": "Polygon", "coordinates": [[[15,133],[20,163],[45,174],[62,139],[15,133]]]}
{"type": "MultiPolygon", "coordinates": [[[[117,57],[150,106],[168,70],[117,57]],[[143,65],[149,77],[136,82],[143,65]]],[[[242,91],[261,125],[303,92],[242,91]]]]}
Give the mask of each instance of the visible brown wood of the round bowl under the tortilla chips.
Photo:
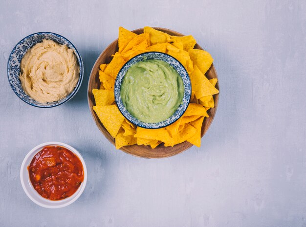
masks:
{"type": "MultiPolygon", "coordinates": [[[[183,36],[183,34],[175,32],[170,29],[166,28],[154,28],[156,30],[166,32],[169,35],[172,36],[183,36]]],[[[143,33],[143,28],[136,29],[132,31],[136,34],[141,34],[143,33]]],[[[198,44],[196,44],[195,49],[200,49],[203,50],[198,44]]],[[[109,140],[110,143],[115,145],[115,139],[111,137],[109,132],[104,128],[102,123],[100,122],[97,114],[93,111],[92,107],[95,105],[94,101],[94,96],[92,94],[92,89],[99,89],[100,87],[100,80],[99,80],[99,66],[100,64],[104,63],[109,63],[112,59],[111,55],[115,54],[118,51],[118,39],[113,41],[112,43],[109,44],[109,46],[102,52],[102,54],[98,57],[96,60],[90,76],[89,76],[89,81],[88,81],[88,90],[87,90],[87,95],[88,95],[88,105],[90,109],[90,113],[98,126],[99,130],[103,133],[103,135],[109,140]]],[[[205,74],[208,79],[212,78],[218,78],[216,69],[214,65],[210,67],[210,69],[207,71],[205,74]]],[[[219,90],[219,81],[216,84],[216,88],[219,90]]],[[[201,129],[201,137],[207,132],[209,129],[209,126],[213,122],[214,116],[217,111],[218,107],[218,101],[219,101],[219,94],[213,95],[214,101],[215,101],[215,108],[211,108],[207,111],[209,114],[209,117],[205,117],[201,129]]],[[[124,151],[126,153],[129,153],[131,155],[137,156],[137,157],[142,157],[142,158],[164,158],[164,157],[170,157],[175,154],[178,154],[180,152],[186,151],[188,148],[192,147],[193,145],[187,141],[177,144],[174,147],[164,147],[163,143],[157,146],[155,149],[152,149],[150,146],[145,146],[141,145],[138,146],[137,144],[132,145],[132,146],[125,146],[122,147],[120,150],[124,151]]]]}

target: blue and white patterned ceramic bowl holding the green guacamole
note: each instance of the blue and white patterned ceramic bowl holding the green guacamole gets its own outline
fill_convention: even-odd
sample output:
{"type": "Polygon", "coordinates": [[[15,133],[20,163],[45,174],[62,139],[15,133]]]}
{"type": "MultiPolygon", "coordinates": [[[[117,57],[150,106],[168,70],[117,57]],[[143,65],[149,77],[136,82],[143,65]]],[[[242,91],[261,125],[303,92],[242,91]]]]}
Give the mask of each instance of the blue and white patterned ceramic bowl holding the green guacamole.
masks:
{"type": "Polygon", "coordinates": [[[184,68],[184,66],[176,60],[174,57],[161,53],[161,52],[146,52],[140,55],[137,55],[131,60],[129,60],[119,71],[117,78],[115,80],[115,87],[114,87],[114,95],[115,95],[115,101],[117,103],[117,106],[120,110],[120,112],[133,124],[142,127],[142,128],[147,128],[147,129],[159,129],[166,127],[172,123],[174,123],[178,118],[180,118],[186,111],[189,101],[190,101],[190,96],[191,96],[191,82],[189,75],[184,68]],[[175,113],[169,117],[168,119],[157,122],[157,123],[146,123],[143,121],[140,121],[133,117],[128,110],[125,108],[123,105],[123,102],[121,100],[121,95],[120,95],[120,89],[121,89],[121,83],[123,81],[123,78],[125,74],[127,73],[128,69],[135,63],[143,60],[149,60],[149,59],[156,59],[156,60],[162,60],[170,64],[176,71],[177,73],[181,76],[184,84],[184,96],[182,103],[179,105],[178,109],[175,111],[175,113]]]}

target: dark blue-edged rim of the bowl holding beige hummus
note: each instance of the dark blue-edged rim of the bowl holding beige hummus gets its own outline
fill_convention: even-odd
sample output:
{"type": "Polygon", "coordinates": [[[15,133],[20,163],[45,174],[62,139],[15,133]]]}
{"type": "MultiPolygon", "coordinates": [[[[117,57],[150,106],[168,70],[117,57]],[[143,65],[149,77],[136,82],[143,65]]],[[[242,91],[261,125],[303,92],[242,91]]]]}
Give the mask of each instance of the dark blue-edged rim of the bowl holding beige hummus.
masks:
{"type": "MultiPolygon", "coordinates": [[[[27,51],[28,51],[28,50],[27,50],[27,51]]],[[[62,105],[62,104],[64,104],[64,103],[66,103],[66,102],[69,101],[75,94],[77,94],[77,92],[79,91],[79,89],[80,89],[80,87],[81,87],[81,85],[82,85],[82,82],[83,82],[83,77],[84,77],[84,76],[83,76],[83,75],[84,75],[84,64],[83,64],[83,60],[82,60],[82,57],[81,57],[79,51],[78,51],[77,48],[73,45],[73,43],[72,43],[69,39],[67,39],[66,37],[64,37],[64,36],[62,36],[62,35],[59,35],[59,34],[57,34],[57,33],[54,33],[54,32],[35,32],[35,33],[32,33],[32,34],[30,34],[30,35],[28,35],[28,36],[22,38],[22,39],[21,39],[19,42],[17,42],[17,44],[14,46],[14,48],[13,48],[12,51],[10,52],[9,57],[8,57],[8,59],[7,59],[6,73],[7,73],[7,79],[8,79],[8,82],[9,82],[10,86],[11,86],[11,89],[13,90],[13,92],[15,93],[15,95],[17,95],[23,102],[25,102],[25,103],[27,103],[27,104],[29,104],[29,105],[31,105],[31,106],[38,107],[38,108],[52,108],[52,107],[56,107],[56,106],[59,106],[59,105],[62,105]],[[77,83],[77,85],[75,86],[75,88],[73,89],[73,91],[72,91],[71,93],[68,94],[68,95],[71,95],[71,96],[70,96],[68,99],[66,99],[65,101],[60,102],[60,103],[57,103],[57,104],[52,105],[52,106],[38,106],[38,105],[35,105],[35,104],[32,104],[32,103],[27,102],[27,101],[24,100],[22,97],[20,97],[20,95],[17,94],[17,92],[14,90],[14,88],[13,88],[11,82],[10,82],[10,79],[9,79],[8,64],[9,64],[9,61],[10,61],[10,57],[11,57],[11,55],[13,54],[13,51],[15,50],[15,48],[17,47],[17,45],[20,44],[24,39],[29,38],[29,37],[31,37],[31,36],[34,36],[34,35],[36,35],[36,34],[51,34],[51,35],[56,35],[56,36],[59,36],[59,37],[61,37],[61,38],[66,39],[66,41],[69,42],[69,43],[71,44],[71,46],[73,46],[73,48],[75,49],[75,52],[76,52],[76,53],[74,52],[74,54],[77,55],[77,56],[80,58],[80,62],[81,62],[81,64],[82,64],[82,65],[79,65],[79,67],[80,67],[80,73],[79,73],[79,80],[78,80],[78,83],[77,83]]],[[[22,90],[23,90],[23,88],[22,88],[22,90]]],[[[68,96],[68,95],[67,95],[67,96],[68,96]]],[[[59,100],[59,101],[60,101],[60,100],[59,100]]]]}

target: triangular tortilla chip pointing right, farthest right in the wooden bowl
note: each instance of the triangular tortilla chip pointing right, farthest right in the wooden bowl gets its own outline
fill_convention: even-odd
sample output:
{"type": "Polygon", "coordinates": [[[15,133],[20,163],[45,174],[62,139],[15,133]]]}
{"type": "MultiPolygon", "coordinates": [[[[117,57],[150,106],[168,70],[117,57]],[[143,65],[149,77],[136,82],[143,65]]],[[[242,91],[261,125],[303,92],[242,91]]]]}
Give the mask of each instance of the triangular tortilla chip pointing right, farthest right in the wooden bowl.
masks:
{"type": "Polygon", "coordinates": [[[194,72],[191,75],[192,90],[195,91],[197,97],[203,97],[208,95],[218,94],[219,91],[215,88],[209,80],[201,73],[201,71],[195,66],[194,72]]]}

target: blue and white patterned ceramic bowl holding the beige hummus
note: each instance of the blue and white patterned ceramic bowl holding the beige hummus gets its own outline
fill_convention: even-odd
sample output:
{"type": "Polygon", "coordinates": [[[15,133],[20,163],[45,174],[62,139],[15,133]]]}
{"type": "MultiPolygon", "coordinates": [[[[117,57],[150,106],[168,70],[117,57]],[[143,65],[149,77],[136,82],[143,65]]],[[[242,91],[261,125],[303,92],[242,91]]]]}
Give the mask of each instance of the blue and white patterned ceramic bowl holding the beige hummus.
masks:
{"type": "Polygon", "coordinates": [[[8,62],[7,62],[7,76],[8,81],[15,92],[15,94],[22,99],[22,101],[26,102],[27,104],[30,104],[32,106],[36,107],[42,107],[42,108],[49,108],[49,107],[55,107],[63,104],[64,102],[71,99],[79,90],[81,87],[81,83],[83,80],[83,61],[82,58],[77,51],[77,49],[74,47],[74,45],[65,37],[62,37],[58,34],[51,33],[51,32],[39,32],[34,33],[32,35],[29,35],[25,38],[23,38],[20,42],[17,43],[17,45],[12,50],[8,62]],[[21,81],[19,79],[20,75],[20,62],[24,54],[28,49],[33,47],[36,43],[42,42],[43,39],[51,39],[57,43],[60,44],[66,44],[70,49],[74,51],[75,56],[77,57],[79,66],[80,66],[80,76],[78,83],[74,90],[67,95],[65,98],[51,103],[40,103],[34,99],[32,99],[29,95],[26,95],[22,89],[21,81]]]}

